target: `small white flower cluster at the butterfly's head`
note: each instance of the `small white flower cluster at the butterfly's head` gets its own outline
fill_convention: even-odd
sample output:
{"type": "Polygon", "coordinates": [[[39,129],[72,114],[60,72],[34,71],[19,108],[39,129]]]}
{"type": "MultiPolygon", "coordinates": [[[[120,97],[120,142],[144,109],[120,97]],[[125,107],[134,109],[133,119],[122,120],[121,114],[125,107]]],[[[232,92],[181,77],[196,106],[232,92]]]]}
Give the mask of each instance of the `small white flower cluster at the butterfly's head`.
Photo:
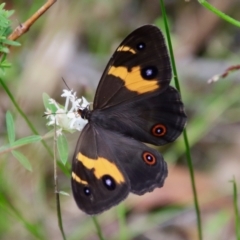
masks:
{"type": "Polygon", "coordinates": [[[78,114],[78,110],[88,107],[89,102],[84,97],[77,98],[76,92],[73,93],[72,90],[64,89],[61,97],[66,98],[64,107],[54,99],[49,99],[49,103],[53,104],[57,108],[57,111],[53,113],[50,109],[47,109],[45,112],[46,118],[49,120],[47,125],[54,125],[56,122],[56,125],[59,126],[57,135],[61,135],[62,130],[70,132],[74,130],[81,131],[88,120],[82,119],[78,114]]]}

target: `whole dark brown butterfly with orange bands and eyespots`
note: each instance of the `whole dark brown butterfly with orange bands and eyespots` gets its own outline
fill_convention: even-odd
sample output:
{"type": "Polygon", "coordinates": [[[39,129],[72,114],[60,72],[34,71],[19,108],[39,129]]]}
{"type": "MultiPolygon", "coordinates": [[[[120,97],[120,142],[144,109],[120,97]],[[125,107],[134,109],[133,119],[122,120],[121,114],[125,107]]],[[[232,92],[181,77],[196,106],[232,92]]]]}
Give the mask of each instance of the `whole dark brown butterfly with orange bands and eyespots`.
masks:
{"type": "Polygon", "coordinates": [[[130,192],[142,195],[163,186],[167,164],[145,143],[170,143],[184,129],[184,106],[170,81],[168,50],[156,26],[134,30],[116,49],[93,109],[80,110],[88,123],[73,156],[71,185],[82,211],[98,214],[130,192]]]}

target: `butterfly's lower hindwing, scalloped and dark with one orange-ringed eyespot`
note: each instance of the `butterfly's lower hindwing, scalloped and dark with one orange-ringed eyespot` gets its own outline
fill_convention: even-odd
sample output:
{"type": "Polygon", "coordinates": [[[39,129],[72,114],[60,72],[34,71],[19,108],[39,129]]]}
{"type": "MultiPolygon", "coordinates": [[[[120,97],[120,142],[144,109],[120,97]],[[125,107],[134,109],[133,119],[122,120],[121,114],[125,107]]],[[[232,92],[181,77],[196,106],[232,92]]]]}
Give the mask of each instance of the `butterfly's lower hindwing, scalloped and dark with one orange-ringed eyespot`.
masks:
{"type": "Polygon", "coordinates": [[[97,132],[101,136],[101,148],[111,151],[116,165],[126,173],[131,192],[142,195],[163,186],[167,165],[157,150],[121,133],[100,127],[97,132]]]}

